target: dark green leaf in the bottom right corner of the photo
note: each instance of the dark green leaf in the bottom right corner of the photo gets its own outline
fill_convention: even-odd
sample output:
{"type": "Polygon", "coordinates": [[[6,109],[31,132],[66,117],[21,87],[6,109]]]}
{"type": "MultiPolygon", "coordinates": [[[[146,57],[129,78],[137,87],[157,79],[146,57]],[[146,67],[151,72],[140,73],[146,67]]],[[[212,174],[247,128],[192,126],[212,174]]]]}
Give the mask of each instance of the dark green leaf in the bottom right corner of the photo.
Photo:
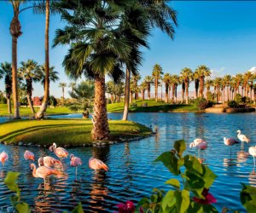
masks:
{"type": "Polygon", "coordinates": [[[241,204],[248,213],[254,213],[256,210],[256,187],[241,185],[243,186],[240,193],[241,204]]]}

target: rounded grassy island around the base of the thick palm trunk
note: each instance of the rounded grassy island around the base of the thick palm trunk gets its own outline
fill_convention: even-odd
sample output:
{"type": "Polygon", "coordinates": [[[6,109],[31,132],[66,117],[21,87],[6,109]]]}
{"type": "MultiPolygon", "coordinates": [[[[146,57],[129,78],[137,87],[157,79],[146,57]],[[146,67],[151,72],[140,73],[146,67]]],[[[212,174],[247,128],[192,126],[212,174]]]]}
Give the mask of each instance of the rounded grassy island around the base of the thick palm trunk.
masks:
{"type": "MultiPolygon", "coordinates": [[[[151,134],[146,126],[131,121],[109,121],[111,140],[151,134]]],[[[92,142],[89,119],[17,120],[0,124],[0,141],[7,144],[32,143],[79,146],[92,142]]]]}

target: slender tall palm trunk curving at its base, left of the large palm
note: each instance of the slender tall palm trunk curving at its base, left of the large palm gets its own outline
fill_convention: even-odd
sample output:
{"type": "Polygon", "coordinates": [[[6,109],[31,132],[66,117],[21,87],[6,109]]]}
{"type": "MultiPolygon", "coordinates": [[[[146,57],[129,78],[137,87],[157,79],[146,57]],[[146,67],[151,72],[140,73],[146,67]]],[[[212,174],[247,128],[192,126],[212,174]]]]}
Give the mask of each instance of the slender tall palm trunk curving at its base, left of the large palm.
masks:
{"type": "Polygon", "coordinates": [[[46,112],[48,97],[49,97],[49,0],[46,0],[45,7],[45,38],[44,38],[44,46],[45,46],[45,81],[44,81],[44,99],[41,107],[39,108],[38,113],[36,114],[36,118],[41,119],[44,118],[44,112],[46,112]]]}

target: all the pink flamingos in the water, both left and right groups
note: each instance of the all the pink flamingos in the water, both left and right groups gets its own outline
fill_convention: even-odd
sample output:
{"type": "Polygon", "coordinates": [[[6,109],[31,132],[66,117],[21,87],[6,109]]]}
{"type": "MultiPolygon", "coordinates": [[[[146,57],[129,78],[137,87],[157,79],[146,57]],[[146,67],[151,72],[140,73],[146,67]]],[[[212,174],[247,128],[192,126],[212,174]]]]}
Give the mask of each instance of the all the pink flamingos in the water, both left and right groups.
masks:
{"type": "MultiPolygon", "coordinates": [[[[249,142],[250,140],[247,138],[246,135],[241,134],[241,130],[237,130],[237,138],[241,141],[241,148],[244,147],[244,142],[249,142]]],[[[225,138],[224,137],[224,144],[227,146],[233,146],[234,144],[239,143],[239,141],[236,141],[234,138],[225,138]]],[[[201,150],[207,149],[207,142],[197,138],[192,143],[189,144],[189,147],[196,147],[198,148],[199,152],[199,158],[200,158],[200,152],[201,150]]],[[[62,158],[67,158],[68,153],[67,150],[62,147],[57,147],[55,143],[53,143],[52,146],[49,147],[49,150],[51,152],[54,152],[55,155],[60,158],[60,160],[57,160],[50,156],[45,156],[43,158],[38,158],[38,168],[35,164],[31,164],[31,170],[32,170],[32,176],[34,177],[40,177],[44,178],[44,186],[45,186],[45,179],[48,176],[51,175],[61,175],[61,172],[59,170],[55,170],[56,164],[62,164],[62,158]]],[[[253,156],[253,168],[255,167],[255,157],[256,157],[256,146],[255,147],[249,147],[249,153],[253,156]]],[[[75,157],[73,154],[70,154],[70,165],[76,168],[76,176],[77,176],[77,169],[78,166],[82,164],[82,160],[79,157],[75,157]]],[[[0,160],[4,166],[5,161],[9,158],[8,153],[5,153],[4,151],[0,154],[0,160]]],[[[34,153],[26,150],[24,153],[24,158],[29,161],[34,161],[34,153]]],[[[108,171],[108,166],[104,164],[100,159],[97,158],[90,158],[89,159],[89,167],[92,170],[106,170],[108,171]]]]}

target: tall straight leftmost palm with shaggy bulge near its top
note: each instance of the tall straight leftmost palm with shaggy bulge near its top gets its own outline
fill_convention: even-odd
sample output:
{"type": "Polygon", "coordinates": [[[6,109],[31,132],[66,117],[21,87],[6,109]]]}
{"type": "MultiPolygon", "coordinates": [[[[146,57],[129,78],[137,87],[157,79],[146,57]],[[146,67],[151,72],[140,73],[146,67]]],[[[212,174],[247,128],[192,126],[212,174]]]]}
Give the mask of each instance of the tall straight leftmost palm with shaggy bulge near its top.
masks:
{"type": "Polygon", "coordinates": [[[14,17],[10,23],[9,32],[12,36],[12,90],[13,90],[13,98],[14,98],[14,107],[15,107],[15,119],[20,118],[20,111],[19,111],[19,97],[18,97],[18,83],[17,83],[17,43],[18,37],[22,34],[19,14],[20,14],[20,4],[24,3],[25,1],[22,0],[9,0],[10,3],[13,5],[14,9],[14,17]]]}

